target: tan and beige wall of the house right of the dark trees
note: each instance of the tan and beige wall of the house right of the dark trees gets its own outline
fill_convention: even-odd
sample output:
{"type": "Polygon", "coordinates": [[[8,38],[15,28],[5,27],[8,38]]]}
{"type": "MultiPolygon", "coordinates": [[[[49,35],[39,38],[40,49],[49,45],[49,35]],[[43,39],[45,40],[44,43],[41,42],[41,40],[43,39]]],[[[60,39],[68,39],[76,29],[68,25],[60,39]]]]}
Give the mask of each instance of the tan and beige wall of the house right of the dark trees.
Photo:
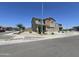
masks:
{"type": "Polygon", "coordinates": [[[53,21],[52,19],[46,20],[45,25],[46,25],[47,32],[58,32],[59,31],[58,24],[56,24],[56,21],[53,21]]]}

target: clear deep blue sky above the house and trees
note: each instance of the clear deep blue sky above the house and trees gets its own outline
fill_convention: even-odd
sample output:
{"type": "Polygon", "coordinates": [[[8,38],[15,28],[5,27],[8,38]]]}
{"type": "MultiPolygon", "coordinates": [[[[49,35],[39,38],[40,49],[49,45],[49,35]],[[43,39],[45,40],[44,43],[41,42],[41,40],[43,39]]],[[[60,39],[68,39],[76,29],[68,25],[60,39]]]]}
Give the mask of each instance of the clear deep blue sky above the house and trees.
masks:
{"type": "Polygon", "coordinates": [[[54,18],[64,28],[79,25],[78,2],[0,2],[0,26],[23,24],[31,27],[32,17],[54,18]]]}

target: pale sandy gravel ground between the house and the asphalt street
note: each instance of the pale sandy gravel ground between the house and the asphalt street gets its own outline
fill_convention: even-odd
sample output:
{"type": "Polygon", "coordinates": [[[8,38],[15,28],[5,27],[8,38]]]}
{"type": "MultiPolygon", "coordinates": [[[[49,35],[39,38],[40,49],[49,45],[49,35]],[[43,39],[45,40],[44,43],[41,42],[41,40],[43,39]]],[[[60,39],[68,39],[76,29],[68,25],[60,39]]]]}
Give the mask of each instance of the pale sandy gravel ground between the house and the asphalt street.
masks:
{"type": "Polygon", "coordinates": [[[58,33],[58,34],[56,33],[54,35],[39,35],[36,33],[30,34],[27,32],[17,35],[17,34],[12,34],[12,33],[13,32],[0,33],[0,45],[48,40],[48,39],[63,38],[63,37],[79,35],[79,32],[67,32],[67,33],[58,33]]]}

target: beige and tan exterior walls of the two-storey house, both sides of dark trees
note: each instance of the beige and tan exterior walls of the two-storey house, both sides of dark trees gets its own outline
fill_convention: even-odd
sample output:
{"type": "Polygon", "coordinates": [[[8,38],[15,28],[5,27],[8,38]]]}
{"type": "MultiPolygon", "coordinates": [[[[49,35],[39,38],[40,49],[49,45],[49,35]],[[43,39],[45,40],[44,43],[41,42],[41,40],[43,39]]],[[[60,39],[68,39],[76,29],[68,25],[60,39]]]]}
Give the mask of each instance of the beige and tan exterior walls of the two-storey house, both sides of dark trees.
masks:
{"type": "MultiPolygon", "coordinates": [[[[41,24],[40,21],[32,21],[32,30],[35,32],[38,32],[38,25],[41,24]]],[[[59,25],[56,23],[55,20],[52,20],[50,18],[46,18],[44,25],[46,26],[46,32],[58,32],[59,31],[59,25]]]]}

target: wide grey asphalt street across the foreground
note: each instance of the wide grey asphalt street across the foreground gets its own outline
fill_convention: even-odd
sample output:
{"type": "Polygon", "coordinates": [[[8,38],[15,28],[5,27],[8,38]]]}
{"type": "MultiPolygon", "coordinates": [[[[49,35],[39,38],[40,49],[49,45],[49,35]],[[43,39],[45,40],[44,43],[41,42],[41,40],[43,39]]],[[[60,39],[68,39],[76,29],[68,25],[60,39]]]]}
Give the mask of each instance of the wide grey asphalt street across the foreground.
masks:
{"type": "Polygon", "coordinates": [[[1,45],[0,57],[79,57],[79,36],[1,45]]]}

